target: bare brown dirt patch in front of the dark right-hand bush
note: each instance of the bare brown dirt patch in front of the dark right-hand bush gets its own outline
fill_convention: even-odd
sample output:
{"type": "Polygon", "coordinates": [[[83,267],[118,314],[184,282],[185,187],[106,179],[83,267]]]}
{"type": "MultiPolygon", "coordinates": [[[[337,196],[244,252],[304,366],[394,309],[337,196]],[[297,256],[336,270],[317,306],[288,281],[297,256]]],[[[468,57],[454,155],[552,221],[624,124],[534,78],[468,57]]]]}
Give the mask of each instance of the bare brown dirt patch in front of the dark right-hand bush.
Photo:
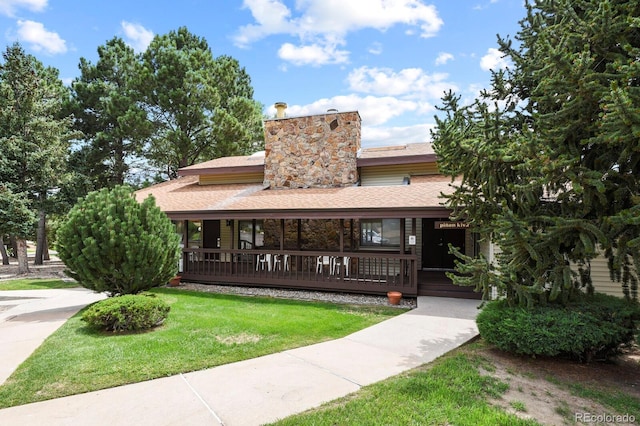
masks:
{"type": "MultiPolygon", "coordinates": [[[[628,350],[610,362],[580,364],[554,358],[524,358],[494,349],[483,349],[495,367],[484,371],[509,384],[509,390],[495,405],[521,418],[529,418],[544,425],[620,424],[616,422],[585,421],[587,416],[632,415],[635,423],[640,413],[618,413],[590,399],[571,393],[566,384],[578,383],[605,392],[622,392],[640,399],[640,351],[628,350]]],[[[590,418],[593,420],[593,418],[590,418]]]]}

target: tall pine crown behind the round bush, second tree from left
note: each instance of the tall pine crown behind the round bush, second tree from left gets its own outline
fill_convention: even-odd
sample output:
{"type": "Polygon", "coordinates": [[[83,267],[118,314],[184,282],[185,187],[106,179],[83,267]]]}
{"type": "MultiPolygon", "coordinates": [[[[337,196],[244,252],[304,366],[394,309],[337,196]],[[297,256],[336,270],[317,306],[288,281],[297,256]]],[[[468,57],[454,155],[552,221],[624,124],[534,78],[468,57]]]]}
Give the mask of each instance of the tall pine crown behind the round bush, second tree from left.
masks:
{"type": "Polygon", "coordinates": [[[94,188],[127,182],[131,163],[139,161],[151,123],[139,106],[133,81],[139,62],[132,48],[115,37],[98,47],[98,61],[80,59],[79,78],[72,84],[76,129],[84,144],[71,164],[94,188]]]}

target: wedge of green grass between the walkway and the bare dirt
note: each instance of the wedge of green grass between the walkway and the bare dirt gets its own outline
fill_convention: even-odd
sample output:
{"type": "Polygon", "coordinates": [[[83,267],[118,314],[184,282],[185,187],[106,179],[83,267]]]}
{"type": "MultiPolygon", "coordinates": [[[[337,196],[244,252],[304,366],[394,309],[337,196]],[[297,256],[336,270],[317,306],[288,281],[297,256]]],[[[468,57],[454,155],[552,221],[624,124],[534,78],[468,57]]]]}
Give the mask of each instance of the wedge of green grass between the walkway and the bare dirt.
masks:
{"type": "Polygon", "coordinates": [[[455,350],[428,365],[274,424],[538,425],[488,402],[506,392],[508,385],[480,374],[486,362],[465,349],[455,350]]]}

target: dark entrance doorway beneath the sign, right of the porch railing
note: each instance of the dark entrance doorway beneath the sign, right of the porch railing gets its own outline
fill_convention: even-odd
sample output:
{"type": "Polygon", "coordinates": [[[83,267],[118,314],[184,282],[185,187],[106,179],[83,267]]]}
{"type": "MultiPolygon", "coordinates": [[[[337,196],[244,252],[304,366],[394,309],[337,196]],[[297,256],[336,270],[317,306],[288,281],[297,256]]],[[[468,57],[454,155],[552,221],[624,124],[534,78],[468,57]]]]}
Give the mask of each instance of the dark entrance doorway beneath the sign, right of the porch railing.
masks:
{"type": "Polygon", "coordinates": [[[449,219],[423,219],[422,268],[453,269],[455,256],[449,253],[449,244],[465,251],[465,229],[442,226],[449,219]]]}

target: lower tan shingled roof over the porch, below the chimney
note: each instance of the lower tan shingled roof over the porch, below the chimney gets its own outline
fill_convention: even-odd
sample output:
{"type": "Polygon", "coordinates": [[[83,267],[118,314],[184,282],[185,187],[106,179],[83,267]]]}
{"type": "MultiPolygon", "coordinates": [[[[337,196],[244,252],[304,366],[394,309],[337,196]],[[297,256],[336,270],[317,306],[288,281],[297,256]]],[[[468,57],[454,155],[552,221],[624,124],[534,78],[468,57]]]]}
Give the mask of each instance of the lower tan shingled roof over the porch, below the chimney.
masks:
{"type": "Polygon", "coordinates": [[[438,217],[446,209],[440,193],[450,178],[414,176],[410,185],[269,190],[262,185],[199,185],[185,176],[136,192],[149,195],[169,216],[189,218],[385,218],[438,217]]]}

